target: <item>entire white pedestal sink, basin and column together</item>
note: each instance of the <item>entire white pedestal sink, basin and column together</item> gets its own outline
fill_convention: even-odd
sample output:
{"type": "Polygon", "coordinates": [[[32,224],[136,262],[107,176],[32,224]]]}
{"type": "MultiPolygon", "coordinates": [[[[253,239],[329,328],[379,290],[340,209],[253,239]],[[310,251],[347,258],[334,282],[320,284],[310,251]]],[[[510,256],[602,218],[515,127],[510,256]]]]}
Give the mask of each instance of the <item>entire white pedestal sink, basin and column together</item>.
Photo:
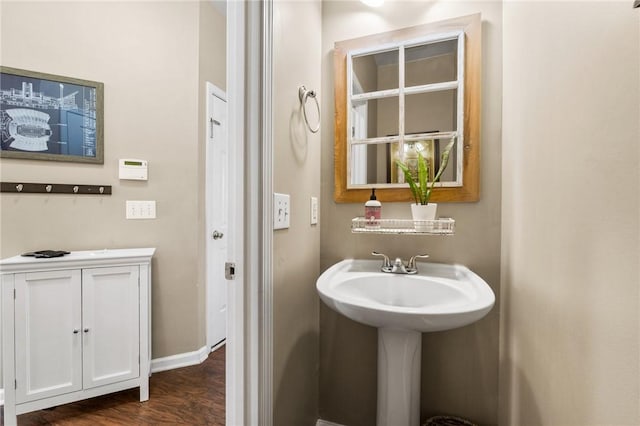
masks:
{"type": "Polygon", "coordinates": [[[471,324],[491,310],[487,283],[462,265],[419,263],[416,275],[380,271],[379,260],[347,259],[316,282],[322,301],[378,328],[378,426],[420,423],[421,333],[471,324]]]}

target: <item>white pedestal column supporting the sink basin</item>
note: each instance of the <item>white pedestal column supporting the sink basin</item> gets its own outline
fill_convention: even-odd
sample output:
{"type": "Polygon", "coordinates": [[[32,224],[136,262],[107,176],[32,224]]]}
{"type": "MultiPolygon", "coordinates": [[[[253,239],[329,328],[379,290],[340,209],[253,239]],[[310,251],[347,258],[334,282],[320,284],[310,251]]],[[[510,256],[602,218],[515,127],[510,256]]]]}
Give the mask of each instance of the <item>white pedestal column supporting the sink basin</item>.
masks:
{"type": "Polygon", "coordinates": [[[422,334],[378,329],[377,426],[419,426],[422,334]]]}

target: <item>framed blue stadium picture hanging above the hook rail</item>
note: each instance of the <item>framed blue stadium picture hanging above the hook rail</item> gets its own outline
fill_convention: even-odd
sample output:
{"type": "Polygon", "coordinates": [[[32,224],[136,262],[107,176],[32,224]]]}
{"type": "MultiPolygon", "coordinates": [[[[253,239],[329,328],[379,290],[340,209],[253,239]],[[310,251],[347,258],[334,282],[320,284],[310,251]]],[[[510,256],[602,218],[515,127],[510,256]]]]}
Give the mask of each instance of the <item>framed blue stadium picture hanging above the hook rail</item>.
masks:
{"type": "Polygon", "coordinates": [[[0,157],[104,164],[104,84],[0,66],[0,157]]]}

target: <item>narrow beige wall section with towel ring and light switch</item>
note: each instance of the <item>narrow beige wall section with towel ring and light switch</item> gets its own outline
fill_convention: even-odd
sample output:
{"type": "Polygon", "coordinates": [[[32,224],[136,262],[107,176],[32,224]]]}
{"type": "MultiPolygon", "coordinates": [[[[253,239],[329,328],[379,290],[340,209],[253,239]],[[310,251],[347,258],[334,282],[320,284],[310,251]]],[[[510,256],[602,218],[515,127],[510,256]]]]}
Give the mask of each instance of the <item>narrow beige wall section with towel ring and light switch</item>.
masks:
{"type": "MultiPolygon", "coordinates": [[[[320,90],[320,20],[318,0],[274,2],[273,186],[291,195],[291,227],[273,235],[273,411],[282,426],[318,418],[320,225],[310,225],[309,215],[310,197],[320,197],[320,133],[305,127],[298,87],[320,90]]],[[[313,120],[311,99],[307,112],[313,120]]]]}

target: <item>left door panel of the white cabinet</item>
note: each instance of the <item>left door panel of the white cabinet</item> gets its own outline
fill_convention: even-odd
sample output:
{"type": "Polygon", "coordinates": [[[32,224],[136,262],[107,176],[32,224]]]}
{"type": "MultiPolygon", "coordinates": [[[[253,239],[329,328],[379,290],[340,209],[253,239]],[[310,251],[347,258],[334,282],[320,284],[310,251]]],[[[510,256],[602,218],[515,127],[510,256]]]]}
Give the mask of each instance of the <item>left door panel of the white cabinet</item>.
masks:
{"type": "Polygon", "coordinates": [[[16,274],[16,402],[82,388],[80,270],[16,274]]]}

